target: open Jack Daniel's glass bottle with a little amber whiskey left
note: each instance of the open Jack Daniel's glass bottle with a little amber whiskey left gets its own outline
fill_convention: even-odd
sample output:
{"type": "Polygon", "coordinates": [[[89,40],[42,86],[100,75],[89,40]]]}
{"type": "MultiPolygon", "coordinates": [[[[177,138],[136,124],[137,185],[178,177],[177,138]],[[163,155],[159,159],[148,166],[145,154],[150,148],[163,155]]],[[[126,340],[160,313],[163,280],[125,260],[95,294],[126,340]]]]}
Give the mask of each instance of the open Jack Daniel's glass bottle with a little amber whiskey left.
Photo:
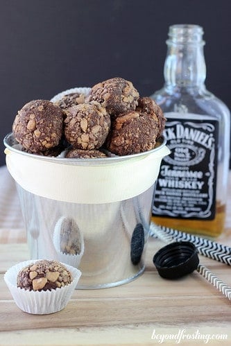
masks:
{"type": "Polygon", "coordinates": [[[164,87],[151,95],[166,117],[164,157],[152,220],[183,232],[219,236],[225,225],[230,112],[205,87],[203,28],[169,27],[164,87]]]}

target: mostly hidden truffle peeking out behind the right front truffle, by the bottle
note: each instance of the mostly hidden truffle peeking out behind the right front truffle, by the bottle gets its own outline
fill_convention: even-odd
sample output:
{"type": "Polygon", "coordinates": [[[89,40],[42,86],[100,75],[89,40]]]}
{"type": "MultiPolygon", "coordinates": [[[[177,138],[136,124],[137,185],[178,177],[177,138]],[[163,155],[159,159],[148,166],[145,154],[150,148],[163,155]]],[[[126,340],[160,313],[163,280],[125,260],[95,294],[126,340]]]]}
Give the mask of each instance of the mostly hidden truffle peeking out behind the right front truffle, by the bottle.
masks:
{"type": "Polygon", "coordinates": [[[164,117],[164,113],[162,112],[160,106],[157,105],[157,103],[155,103],[155,101],[150,97],[141,97],[138,100],[138,106],[136,111],[152,114],[153,118],[155,120],[157,119],[157,126],[159,128],[159,131],[157,132],[157,137],[160,137],[162,135],[166,123],[166,118],[164,117]]]}

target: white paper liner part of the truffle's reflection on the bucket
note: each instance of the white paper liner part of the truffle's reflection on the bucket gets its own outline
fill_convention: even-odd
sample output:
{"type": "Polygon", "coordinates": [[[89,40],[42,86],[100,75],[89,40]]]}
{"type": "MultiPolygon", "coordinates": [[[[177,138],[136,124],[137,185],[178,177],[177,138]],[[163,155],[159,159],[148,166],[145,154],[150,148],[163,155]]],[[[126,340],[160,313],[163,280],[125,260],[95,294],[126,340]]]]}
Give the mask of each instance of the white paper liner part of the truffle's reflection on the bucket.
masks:
{"type": "Polygon", "coordinates": [[[83,257],[84,252],[84,241],[83,241],[83,234],[80,232],[78,225],[75,223],[74,219],[71,218],[71,221],[76,227],[76,236],[78,236],[78,240],[80,241],[81,250],[79,254],[65,254],[60,250],[60,230],[62,227],[65,227],[65,222],[68,221],[68,216],[62,216],[58,222],[55,225],[55,230],[53,233],[53,244],[55,246],[55,250],[58,254],[58,260],[60,262],[64,262],[69,264],[69,266],[78,267],[79,263],[81,261],[81,258],[83,257]]]}

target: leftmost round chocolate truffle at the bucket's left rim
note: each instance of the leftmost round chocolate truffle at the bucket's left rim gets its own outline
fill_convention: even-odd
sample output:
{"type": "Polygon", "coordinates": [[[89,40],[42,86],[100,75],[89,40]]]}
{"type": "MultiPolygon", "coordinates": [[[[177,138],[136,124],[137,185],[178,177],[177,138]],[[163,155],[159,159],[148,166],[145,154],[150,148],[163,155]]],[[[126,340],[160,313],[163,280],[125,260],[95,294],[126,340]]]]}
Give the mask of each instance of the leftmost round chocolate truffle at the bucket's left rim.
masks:
{"type": "Polygon", "coordinates": [[[33,100],[19,110],[12,125],[15,139],[32,153],[58,146],[62,137],[62,110],[47,100],[33,100]]]}

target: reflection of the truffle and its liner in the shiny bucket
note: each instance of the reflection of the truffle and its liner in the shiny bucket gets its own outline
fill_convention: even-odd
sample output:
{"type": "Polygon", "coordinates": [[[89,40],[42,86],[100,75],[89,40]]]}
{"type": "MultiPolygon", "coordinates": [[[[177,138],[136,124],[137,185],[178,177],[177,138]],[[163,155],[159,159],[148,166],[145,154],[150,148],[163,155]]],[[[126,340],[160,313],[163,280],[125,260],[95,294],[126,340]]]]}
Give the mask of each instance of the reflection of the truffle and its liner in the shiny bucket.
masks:
{"type": "Polygon", "coordinates": [[[84,252],[83,235],[76,221],[62,216],[55,225],[53,244],[61,262],[78,267],[84,252]]]}

